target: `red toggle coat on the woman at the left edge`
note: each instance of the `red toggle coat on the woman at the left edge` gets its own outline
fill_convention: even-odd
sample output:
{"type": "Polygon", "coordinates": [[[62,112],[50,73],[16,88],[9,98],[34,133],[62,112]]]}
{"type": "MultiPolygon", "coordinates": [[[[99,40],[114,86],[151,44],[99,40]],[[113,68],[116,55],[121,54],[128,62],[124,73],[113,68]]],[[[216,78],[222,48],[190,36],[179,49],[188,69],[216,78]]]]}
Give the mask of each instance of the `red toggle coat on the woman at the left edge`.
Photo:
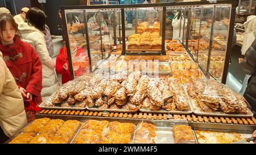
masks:
{"type": "Polygon", "coordinates": [[[33,95],[36,104],[42,102],[42,62],[30,44],[14,37],[14,44],[3,45],[0,41],[3,60],[9,68],[18,87],[23,87],[33,95]]]}

